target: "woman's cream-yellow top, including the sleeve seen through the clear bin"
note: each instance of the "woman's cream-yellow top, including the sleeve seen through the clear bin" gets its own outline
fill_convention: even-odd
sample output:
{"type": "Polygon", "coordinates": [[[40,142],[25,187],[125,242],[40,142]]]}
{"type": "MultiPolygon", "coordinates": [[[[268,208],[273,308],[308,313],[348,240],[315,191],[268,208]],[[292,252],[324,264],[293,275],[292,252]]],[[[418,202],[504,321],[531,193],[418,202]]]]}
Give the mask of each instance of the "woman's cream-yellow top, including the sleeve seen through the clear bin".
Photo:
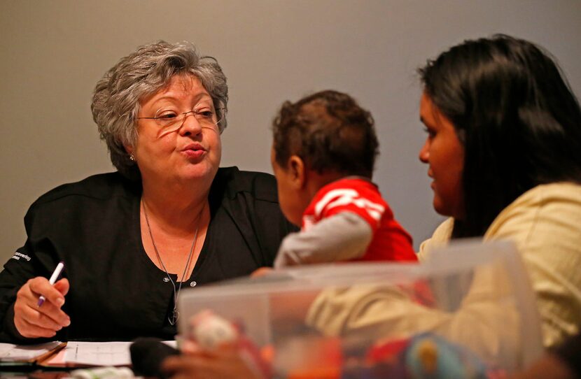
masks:
{"type": "MultiPolygon", "coordinates": [[[[420,259],[449,241],[453,222],[444,221],[421,244],[420,259]]],[[[529,190],[496,217],[484,239],[509,239],[519,248],[538,299],[545,346],[580,329],[581,185],[554,183],[529,190]]],[[[508,282],[505,272],[479,269],[454,313],[425,308],[393,288],[328,289],[311,304],[307,324],[325,334],[376,338],[437,331],[510,367],[522,364],[518,347],[526,336],[519,334],[517,305],[498,303],[510,291],[508,282]]]]}

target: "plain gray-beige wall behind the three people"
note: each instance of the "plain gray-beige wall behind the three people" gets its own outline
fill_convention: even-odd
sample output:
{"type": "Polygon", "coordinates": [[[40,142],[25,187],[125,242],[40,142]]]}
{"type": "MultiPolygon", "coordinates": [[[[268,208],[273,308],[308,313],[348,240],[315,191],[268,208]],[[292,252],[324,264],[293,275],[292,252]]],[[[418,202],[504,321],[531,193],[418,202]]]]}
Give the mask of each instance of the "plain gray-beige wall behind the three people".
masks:
{"type": "MultiPolygon", "coordinates": [[[[466,38],[543,45],[581,94],[576,0],[0,0],[0,261],[25,242],[22,217],[56,185],[111,171],[90,114],[93,87],[138,45],[192,41],[230,85],[222,166],[272,172],[269,124],[286,99],[349,92],[377,122],[375,181],[417,246],[431,206],[415,69],[466,38]]],[[[58,220],[55,220],[58,222],[58,220]]]]}

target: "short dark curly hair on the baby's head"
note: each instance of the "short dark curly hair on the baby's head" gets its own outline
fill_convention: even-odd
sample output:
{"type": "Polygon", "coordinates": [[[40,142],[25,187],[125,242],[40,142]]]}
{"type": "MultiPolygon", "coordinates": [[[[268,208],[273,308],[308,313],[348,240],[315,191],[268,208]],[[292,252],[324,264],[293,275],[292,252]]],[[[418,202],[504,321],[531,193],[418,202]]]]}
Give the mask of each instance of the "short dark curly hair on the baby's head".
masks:
{"type": "Polygon", "coordinates": [[[379,143],[371,113],[348,94],[325,90],[286,101],[272,123],[276,163],[292,155],[318,173],[371,178],[379,143]]]}

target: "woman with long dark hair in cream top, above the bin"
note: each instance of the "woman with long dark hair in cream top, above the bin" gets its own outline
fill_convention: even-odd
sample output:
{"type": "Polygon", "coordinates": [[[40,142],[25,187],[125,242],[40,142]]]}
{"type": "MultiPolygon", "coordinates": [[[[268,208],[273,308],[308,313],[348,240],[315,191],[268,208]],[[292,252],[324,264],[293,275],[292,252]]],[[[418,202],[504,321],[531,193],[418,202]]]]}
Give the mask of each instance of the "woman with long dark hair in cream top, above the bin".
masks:
{"type": "Polygon", "coordinates": [[[505,35],[465,41],[419,72],[428,131],[419,157],[434,179],[435,210],[452,217],[421,255],[450,238],[514,241],[537,296],[544,343],[559,343],[581,327],[575,95],[549,53],[505,35]]]}

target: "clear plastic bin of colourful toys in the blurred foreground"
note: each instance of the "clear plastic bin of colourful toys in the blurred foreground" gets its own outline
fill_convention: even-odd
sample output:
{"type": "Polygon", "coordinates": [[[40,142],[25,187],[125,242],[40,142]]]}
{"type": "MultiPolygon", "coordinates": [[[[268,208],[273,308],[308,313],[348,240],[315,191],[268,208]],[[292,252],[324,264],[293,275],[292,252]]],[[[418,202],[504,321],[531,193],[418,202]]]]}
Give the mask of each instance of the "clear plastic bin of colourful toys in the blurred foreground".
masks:
{"type": "Polygon", "coordinates": [[[183,291],[179,333],[227,320],[276,378],[490,378],[542,352],[512,243],[463,242],[422,264],[300,266],[183,291]]]}

